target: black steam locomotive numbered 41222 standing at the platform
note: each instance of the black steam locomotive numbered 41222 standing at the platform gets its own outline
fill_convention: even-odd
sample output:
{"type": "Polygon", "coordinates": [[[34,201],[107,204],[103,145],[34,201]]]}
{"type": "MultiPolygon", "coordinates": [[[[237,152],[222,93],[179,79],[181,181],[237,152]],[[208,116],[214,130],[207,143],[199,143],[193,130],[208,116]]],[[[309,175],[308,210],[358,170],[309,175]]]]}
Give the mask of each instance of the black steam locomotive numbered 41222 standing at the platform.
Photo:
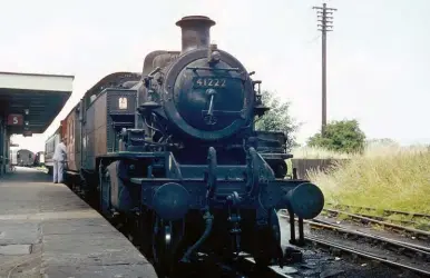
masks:
{"type": "Polygon", "coordinates": [[[255,130],[270,109],[261,81],[209,43],[215,22],[190,16],[176,24],[180,51],[153,51],[141,73],[105,77],[61,121],[67,182],[134,230],[166,276],[199,254],[277,264],[276,211],[313,218],[324,197],[286,177],[283,132],[255,130]]]}

